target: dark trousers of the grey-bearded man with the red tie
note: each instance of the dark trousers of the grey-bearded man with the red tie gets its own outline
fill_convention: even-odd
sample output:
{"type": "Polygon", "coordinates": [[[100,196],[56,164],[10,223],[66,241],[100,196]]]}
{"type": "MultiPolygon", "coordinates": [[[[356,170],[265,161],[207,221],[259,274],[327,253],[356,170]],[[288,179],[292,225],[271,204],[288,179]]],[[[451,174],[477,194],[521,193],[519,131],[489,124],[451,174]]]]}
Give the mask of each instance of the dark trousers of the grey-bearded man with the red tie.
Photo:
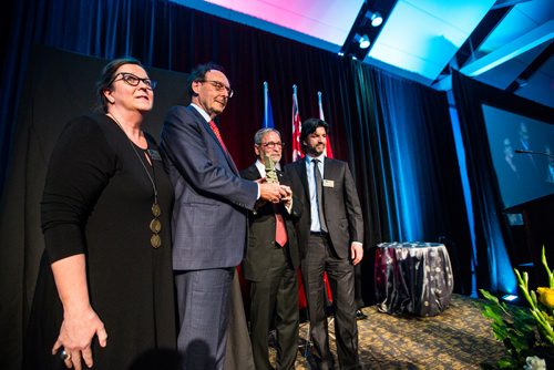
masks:
{"type": "Polygon", "coordinates": [[[298,351],[298,280],[285,248],[271,249],[270,268],[250,281],[250,339],[256,370],[273,369],[267,336],[275,321],[277,369],[294,369],[298,351]]]}

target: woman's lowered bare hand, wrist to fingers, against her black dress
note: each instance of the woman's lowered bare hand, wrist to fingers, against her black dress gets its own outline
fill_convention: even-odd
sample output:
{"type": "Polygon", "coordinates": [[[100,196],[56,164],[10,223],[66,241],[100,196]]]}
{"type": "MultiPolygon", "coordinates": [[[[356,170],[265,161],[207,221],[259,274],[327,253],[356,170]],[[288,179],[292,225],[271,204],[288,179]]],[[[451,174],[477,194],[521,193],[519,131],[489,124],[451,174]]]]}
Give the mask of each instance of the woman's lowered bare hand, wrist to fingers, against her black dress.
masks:
{"type": "Polygon", "coordinates": [[[63,360],[68,368],[81,370],[82,361],[92,368],[91,345],[94,336],[98,337],[100,347],[105,347],[107,333],[104,323],[96,312],[89,306],[85,309],[68,310],[64,312],[60,336],[52,348],[52,354],[63,348],[63,360]],[[82,361],[81,361],[82,360],[82,361]]]}

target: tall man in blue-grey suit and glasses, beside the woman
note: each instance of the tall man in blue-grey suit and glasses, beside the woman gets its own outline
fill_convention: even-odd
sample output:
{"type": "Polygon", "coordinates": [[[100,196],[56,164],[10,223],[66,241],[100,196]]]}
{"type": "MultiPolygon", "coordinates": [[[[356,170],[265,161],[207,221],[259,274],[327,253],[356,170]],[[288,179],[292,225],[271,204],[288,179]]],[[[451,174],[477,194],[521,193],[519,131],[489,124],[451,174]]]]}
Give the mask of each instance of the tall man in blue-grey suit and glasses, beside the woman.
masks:
{"type": "Polygon", "coordinates": [[[278,203],[276,184],[240,178],[213,119],[233,96],[223,69],[189,75],[189,106],[170,110],[161,151],[175,187],[173,268],[183,369],[223,369],[229,296],[246,246],[247,212],[261,198],[278,203]]]}

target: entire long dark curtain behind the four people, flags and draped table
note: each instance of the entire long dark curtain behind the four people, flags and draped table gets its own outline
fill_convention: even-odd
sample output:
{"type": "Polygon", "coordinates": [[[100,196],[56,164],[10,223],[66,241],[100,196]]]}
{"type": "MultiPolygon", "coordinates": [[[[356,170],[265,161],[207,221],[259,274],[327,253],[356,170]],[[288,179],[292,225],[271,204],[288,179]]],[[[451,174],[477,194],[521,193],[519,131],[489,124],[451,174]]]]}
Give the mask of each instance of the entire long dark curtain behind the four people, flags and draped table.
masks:
{"type": "MultiPolygon", "coordinates": [[[[10,2],[2,35],[0,89],[0,185],[11,181],[12,153],[20,132],[16,112],[28,74],[32,44],[100,58],[130,54],[146,65],[188,72],[214,61],[227,69],[236,91],[220,117],[222,134],[239,167],[254,161],[253,135],[263,122],[263,82],[276,129],[291,136],[291,86],[298,85],[301,119],[317,116],[317,91],[330,124],[332,150],[355,174],[366,220],[362,292],[373,299],[372,254],[380,241],[447,241],[454,261],[456,291],[469,294],[470,236],[445,95],[369,65],[295,41],[154,0],[21,0],[10,2]],[[7,174],[7,175],[6,175],[7,174]],[[2,178],[6,175],[6,182],[2,178]]],[[[154,133],[157,134],[157,133],[154,133]]],[[[290,148],[285,162],[290,161],[290,148]]],[[[24,161],[23,161],[24,162],[24,161]]],[[[33,184],[42,187],[42,184],[33,184]]],[[[7,186],[2,186],[3,189],[7,186]]],[[[0,368],[16,369],[30,296],[24,258],[35,258],[37,215],[29,207],[0,203],[0,368]],[[10,234],[13,223],[23,223],[10,234]],[[28,223],[34,223],[28,227],[28,223]],[[13,235],[17,234],[17,235],[13,235]],[[33,249],[34,248],[34,249],[33,249]],[[32,257],[29,257],[32,254],[32,257]],[[27,256],[27,257],[25,257],[27,256]],[[4,268],[11,266],[11,268],[4,268]],[[4,335],[8,333],[8,335],[4,335]]],[[[37,210],[34,210],[37,212],[37,210]]]]}

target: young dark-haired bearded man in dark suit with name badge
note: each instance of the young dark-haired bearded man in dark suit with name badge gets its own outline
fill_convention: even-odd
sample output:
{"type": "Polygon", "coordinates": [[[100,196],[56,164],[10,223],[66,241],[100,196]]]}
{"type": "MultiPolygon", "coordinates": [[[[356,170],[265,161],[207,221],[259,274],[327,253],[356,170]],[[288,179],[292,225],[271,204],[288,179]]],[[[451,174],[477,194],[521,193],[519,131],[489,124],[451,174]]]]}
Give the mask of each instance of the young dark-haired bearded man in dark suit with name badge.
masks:
{"type": "Polygon", "coordinates": [[[325,156],[327,129],[327,123],[317,119],[302,123],[300,143],[306,157],[286,166],[285,172],[304,205],[297,232],[314,357],[319,369],[334,369],[325,312],[326,271],[335,308],[339,367],[358,369],[353,267],[363,257],[363,219],[348,164],[325,156]]]}

